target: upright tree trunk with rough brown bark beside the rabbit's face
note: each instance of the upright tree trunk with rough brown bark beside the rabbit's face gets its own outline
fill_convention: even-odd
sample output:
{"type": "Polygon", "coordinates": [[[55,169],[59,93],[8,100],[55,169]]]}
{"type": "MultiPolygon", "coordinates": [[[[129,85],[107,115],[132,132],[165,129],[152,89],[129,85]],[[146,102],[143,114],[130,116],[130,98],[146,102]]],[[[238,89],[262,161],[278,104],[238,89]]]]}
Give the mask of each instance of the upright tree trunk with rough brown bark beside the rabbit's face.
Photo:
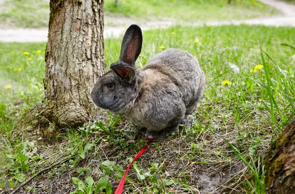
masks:
{"type": "Polygon", "coordinates": [[[59,126],[76,127],[94,110],[90,92],[104,73],[103,0],[50,0],[44,87],[59,126]]]}

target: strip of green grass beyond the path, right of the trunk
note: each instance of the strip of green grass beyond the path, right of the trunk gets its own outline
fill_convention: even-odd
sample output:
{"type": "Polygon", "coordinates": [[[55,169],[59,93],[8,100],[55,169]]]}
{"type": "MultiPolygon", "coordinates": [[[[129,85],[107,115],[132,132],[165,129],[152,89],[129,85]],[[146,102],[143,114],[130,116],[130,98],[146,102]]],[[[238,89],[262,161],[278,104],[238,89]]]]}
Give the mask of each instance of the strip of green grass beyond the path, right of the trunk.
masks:
{"type": "Polygon", "coordinates": [[[105,0],[105,14],[119,13],[144,19],[173,18],[177,21],[242,20],[276,14],[257,0],[105,0]]]}

